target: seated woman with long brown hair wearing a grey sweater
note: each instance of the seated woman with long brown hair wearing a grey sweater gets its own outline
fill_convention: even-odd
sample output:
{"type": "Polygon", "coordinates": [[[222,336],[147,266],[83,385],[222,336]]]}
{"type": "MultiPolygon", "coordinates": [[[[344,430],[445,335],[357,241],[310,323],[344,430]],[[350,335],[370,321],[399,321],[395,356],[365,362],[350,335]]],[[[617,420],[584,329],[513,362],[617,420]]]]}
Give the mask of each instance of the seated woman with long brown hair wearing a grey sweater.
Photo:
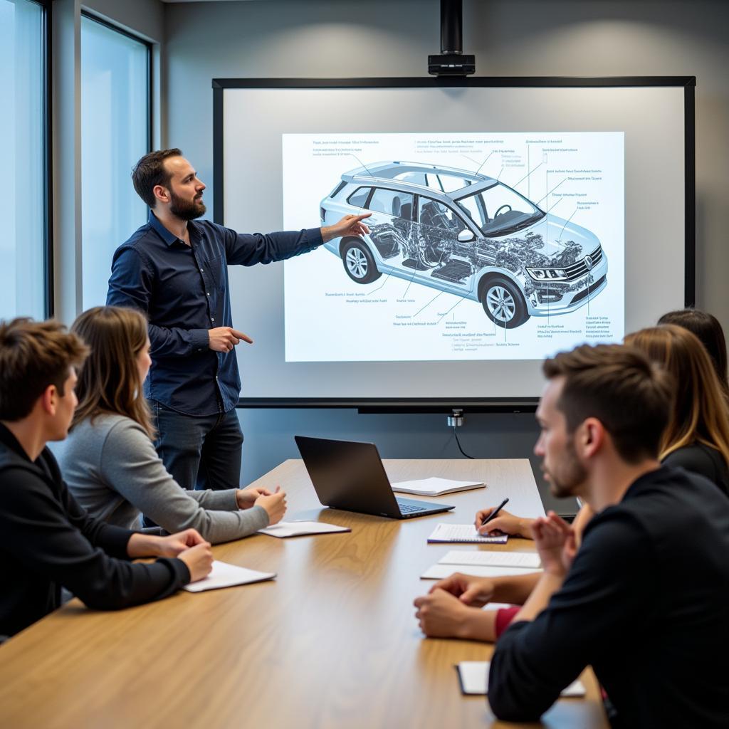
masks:
{"type": "Polygon", "coordinates": [[[143,314],[98,306],[82,313],[71,331],[91,353],[79,371],[71,432],[54,452],[71,492],[91,515],[131,529],[142,512],[165,531],[192,527],[214,543],[281,521],[283,492],[184,491],[167,472],[152,445],[142,394],[150,364],[143,314]]]}

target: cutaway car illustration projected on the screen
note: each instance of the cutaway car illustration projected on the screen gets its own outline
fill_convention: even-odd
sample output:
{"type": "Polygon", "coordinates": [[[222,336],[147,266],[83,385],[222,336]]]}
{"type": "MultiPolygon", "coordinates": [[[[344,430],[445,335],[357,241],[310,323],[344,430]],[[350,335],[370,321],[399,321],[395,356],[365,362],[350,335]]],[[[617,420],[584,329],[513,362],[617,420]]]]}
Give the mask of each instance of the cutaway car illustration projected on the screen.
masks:
{"type": "Polygon", "coordinates": [[[370,284],[389,273],[480,301],[500,327],[574,311],[607,285],[596,235],[547,216],[493,177],[374,163],[342,175],[321,201],[321,222],[362,211],[372,213],[369,235],[325,244],[353,281],[370,284]]]}

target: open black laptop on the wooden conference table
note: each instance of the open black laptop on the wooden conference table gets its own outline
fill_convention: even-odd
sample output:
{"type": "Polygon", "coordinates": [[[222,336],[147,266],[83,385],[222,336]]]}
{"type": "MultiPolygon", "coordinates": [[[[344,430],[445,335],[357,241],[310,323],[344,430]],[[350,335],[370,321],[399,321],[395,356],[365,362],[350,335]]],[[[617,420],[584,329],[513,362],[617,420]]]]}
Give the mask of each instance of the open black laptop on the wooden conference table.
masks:
{"type": "Polygon", "coordinates": [[[331,509],[411,519],[455,508],[448,504],[396,499],[374,443],[296,435],[319,501],[331,509]]]}

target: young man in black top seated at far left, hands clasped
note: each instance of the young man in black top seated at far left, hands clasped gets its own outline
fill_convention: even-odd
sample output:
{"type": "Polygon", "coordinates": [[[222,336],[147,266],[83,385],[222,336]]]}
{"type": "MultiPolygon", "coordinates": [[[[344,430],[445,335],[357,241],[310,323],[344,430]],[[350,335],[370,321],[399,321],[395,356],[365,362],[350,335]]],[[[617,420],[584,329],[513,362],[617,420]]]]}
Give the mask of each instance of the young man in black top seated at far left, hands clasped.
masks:
{"type": "Polygon", "coordinates": [[[87,349],[55,321],[0,322],[0,634],[61,604],[61,587],[89,607],[166,597],[210,572],[194,529],[152,537],[91,518],[69,494],[49,440],[66,437],[87,349]],[[131,564],[138,557],[160,557],[131,564]]]}

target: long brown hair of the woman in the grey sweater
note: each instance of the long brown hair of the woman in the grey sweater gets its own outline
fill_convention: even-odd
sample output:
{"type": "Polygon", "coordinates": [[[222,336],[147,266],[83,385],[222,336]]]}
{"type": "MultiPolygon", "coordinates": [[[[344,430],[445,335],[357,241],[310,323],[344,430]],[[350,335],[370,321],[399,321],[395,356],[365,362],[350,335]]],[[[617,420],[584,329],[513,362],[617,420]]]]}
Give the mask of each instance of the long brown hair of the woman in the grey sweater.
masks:
{"type": "Polygon", "coordinates": [[[147,399],[142,394],[137,358],[147,344],[147,319],[135,309],[96,306],[71,325],[91,349],[78,373],[79,405],[71,429],[85,418],[115,413],[139,423],[155,437],[147,399]]]}

